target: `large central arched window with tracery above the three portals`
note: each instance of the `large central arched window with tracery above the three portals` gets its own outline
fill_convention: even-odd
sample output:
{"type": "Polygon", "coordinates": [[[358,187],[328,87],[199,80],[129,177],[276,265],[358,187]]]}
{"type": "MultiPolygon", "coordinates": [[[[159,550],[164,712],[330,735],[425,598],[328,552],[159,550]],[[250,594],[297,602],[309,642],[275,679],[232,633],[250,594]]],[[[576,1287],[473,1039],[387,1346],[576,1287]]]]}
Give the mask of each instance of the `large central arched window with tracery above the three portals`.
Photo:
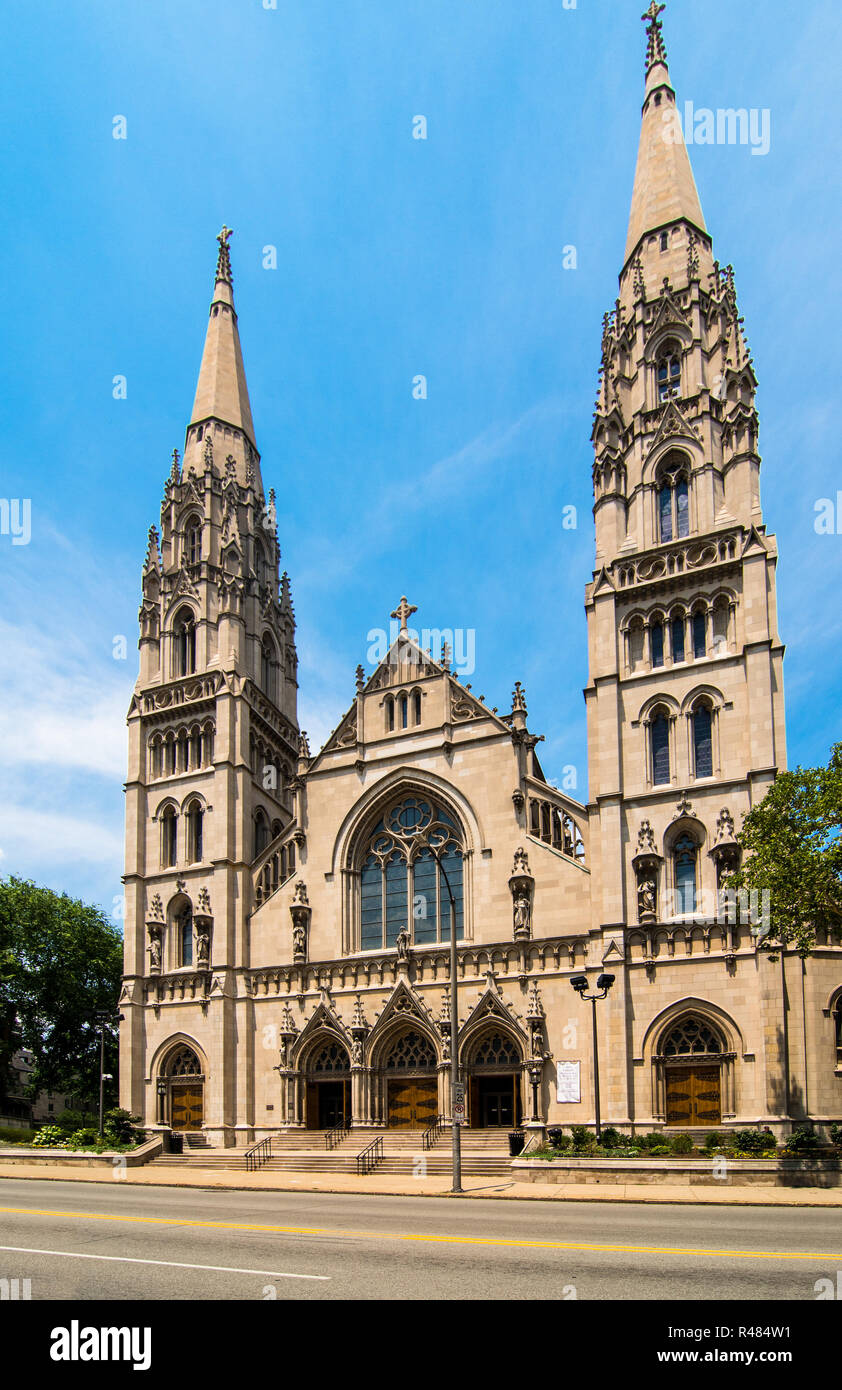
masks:
{"type": "Polygon", "coordinates": [[[461,834],[440,805],[418,796],[395,802],[365,840],[364,853],[361,951],[393,947],[404,930],[415,945],[449,941],[447,883],[453,894],[456,935],[457,940],[463,937],[461,834]]]}

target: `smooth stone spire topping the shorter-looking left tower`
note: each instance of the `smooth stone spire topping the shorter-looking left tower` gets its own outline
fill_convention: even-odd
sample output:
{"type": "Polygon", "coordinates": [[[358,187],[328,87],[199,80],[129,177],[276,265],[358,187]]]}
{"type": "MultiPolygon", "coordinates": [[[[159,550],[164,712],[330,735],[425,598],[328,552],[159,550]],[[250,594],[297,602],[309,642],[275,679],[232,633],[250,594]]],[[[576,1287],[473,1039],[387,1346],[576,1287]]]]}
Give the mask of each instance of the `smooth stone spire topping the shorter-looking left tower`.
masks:
{"type": "Polygon", "coordinates": [[[220,253],[217,257],[214,297],[210,307],[204,352],[201,354],[196,399],[193,400],[188,434],[193,425],[203,424],[206,420],[215,420],[242,431],[254,449],[254,424],[251,423],[246,368],[243,367],[243,353],[233,307],[231,250],[228,246],[231,235],[231,228],[224,227],[217,236],[220,253]]]}

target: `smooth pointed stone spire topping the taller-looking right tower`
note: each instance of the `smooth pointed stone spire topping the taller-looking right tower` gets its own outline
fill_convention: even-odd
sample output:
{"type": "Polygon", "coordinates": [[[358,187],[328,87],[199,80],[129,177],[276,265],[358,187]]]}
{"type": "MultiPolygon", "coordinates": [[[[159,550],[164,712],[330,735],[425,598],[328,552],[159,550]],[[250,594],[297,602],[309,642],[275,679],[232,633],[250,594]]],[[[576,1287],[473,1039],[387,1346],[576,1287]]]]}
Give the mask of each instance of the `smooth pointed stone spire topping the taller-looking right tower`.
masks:
{"type": "Polygon", "coordinates": [[[670,85],[660,18],[663,10],[663,4],[652,0],[649,10],[642,15],[647,36],[646,92],[625,240],[627,263],[649,232],[671,222],[684,220],[697,231],[707,232],[675,107],[675,92],[670,85]]]}

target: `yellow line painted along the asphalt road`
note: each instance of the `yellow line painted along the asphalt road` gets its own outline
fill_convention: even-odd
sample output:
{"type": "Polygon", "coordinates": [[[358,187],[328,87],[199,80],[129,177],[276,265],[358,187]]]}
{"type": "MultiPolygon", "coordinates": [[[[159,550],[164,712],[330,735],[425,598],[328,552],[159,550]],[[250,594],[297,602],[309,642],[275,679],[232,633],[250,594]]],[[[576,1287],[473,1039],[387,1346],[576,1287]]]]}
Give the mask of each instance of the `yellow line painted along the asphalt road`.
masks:
{"type": "Polygon", "coordinates": [[[118,1212],[60,1212],[38,1207],[0,1207],[15,1216],[61,1216],[67,1220],[113,1220],[140,1226],[197,1226],[204,1230],[250,1230],[270,1236],[327,1236],[343,1240],[415,1240],[438,1245],[503,1245],[513,1250],[568,1250],[609,1255],[709,1255],[720,1259],[836,1259],[831,1251],[704,1250],[692,1245],[616,1245],[567,1240],[504,1240],[500,1236],[424,1236],[413,1232],[331,1230],[327,1226],[261,1226],[251,1222],[186,1220],[178,1216],[124,1216],[118,1212]]]}

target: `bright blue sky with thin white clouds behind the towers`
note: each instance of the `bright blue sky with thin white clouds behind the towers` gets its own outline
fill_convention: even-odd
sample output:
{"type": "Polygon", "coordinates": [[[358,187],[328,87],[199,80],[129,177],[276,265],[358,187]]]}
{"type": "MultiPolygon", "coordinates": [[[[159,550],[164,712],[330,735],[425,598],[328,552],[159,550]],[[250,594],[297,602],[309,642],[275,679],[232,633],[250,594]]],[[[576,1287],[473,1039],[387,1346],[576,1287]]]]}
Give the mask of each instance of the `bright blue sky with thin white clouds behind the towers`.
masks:
{"type": "MultiPolygon", "coordinates": [[[[0,873],[108,910],[119,897],[140,564],[183,442],[224,221],[313,745],[406,592],[418,626],[475,630],[472,685],[489,705],[507,709],[524,682],[547,774],[574,764],[586,796],[589,432],[643,8],[7,13],[0,496],[31,499],[32,539],[0,535],[0,873]],[[411,138],[420,114],[427,140],[411,138]],[[413,399],[417,374],[427,400],[413,399]]],[[[836,0],[670,0],[664,19],[679,103],[771,113],[768,156],[692,157],[760,378],[789,760],[814,763],[839,738],[842,534],[813,523],[842,486],[842,14],[836,0]]]]}

